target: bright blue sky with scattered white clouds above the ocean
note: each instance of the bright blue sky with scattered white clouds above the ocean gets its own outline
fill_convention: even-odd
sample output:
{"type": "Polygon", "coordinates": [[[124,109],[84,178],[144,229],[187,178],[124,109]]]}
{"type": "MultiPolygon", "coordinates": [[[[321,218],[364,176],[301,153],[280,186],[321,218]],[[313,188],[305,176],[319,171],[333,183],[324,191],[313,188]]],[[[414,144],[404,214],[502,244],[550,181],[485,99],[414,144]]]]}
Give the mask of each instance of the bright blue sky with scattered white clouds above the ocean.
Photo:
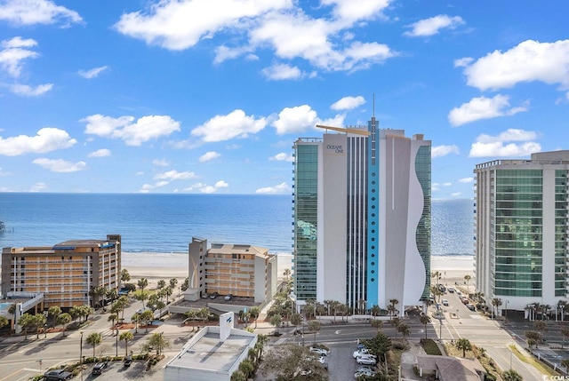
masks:
{"type": "Polygon", "coordinates": [[[290,194],[315,124],[432,140],[435,198],[567,149],[569,3],[0,0],[0,191],[290,194]],[[547,4],[547,5],[545,5],[547,4]]]}

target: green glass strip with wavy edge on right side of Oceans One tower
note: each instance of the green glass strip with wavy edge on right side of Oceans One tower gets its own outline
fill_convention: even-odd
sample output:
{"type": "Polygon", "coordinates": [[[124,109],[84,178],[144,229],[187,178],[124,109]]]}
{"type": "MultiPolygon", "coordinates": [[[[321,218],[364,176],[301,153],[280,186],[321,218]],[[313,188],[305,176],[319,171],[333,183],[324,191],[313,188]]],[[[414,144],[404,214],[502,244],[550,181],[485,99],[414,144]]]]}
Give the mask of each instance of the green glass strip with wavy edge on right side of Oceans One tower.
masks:
{"type": "Polygon", "coordinates": [[[425,289],[421,296],[421,300],[429,300],[430,296],[430,146],[422,146],[415,157],[415,174],[421,183],[423,190],[423,213],[417,226],[415,233],[415,241],[417,249],[421,253],[421,259],[425,264],[425,289]]]}

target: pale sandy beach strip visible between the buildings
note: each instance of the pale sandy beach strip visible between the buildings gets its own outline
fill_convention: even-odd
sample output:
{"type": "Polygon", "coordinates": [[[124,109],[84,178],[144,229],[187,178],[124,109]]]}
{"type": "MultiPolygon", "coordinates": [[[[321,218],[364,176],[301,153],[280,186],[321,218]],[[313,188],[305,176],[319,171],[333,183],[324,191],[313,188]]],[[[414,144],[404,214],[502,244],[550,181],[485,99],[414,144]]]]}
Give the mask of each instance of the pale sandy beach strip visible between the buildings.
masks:
{"type": "MultiPolygon", "coordinates": [[[[278,273],[282,276],[285,268],[291,268],[293,256],[278,255],[278,273]]],[[[472,256],[432,256],[430,258],[431,273],[440,272],[443,284],[464,283],[464,276],[469,274],[469,284],[474,283],[474,258],[472,256]]],[[[131,274],[131,282],[140,278],[148,279],[150,287],[163,279],[178,279],[179,284],[188,276],[188,253],[151,253],[123,252],[122,267],[131,274]]]]}

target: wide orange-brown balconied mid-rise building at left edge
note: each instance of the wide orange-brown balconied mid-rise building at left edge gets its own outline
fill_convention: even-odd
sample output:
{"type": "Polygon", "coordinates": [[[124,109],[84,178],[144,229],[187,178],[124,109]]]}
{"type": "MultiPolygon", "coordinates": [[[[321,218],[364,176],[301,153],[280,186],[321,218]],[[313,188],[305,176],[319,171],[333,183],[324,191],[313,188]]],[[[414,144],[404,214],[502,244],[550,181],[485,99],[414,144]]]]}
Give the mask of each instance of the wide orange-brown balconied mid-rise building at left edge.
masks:
{"type": "Polygon", "coordinates": [[[117,290],[120,279],[120,234],[2,250],[4,298],[44,294],[44,308],[96,306],[104,297],[93,290],[117,290]]]}

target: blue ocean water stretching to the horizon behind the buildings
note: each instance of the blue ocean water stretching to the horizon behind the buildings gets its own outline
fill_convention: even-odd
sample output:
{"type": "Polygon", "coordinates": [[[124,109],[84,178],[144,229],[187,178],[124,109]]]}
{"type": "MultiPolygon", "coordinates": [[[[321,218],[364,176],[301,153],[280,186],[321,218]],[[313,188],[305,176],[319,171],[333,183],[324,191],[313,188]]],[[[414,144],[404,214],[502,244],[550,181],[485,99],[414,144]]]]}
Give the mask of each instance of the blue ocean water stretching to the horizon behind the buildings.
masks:
{"type": "MultiPolygon", "coordinates": [[[[473,202],[432,202],[432,255],[472,255],[473,202]]],[[[0,193],[0,247],[121,234],[126,252],[185,252],[192,237],[291,253],[291,195],[0,193]]]]}

